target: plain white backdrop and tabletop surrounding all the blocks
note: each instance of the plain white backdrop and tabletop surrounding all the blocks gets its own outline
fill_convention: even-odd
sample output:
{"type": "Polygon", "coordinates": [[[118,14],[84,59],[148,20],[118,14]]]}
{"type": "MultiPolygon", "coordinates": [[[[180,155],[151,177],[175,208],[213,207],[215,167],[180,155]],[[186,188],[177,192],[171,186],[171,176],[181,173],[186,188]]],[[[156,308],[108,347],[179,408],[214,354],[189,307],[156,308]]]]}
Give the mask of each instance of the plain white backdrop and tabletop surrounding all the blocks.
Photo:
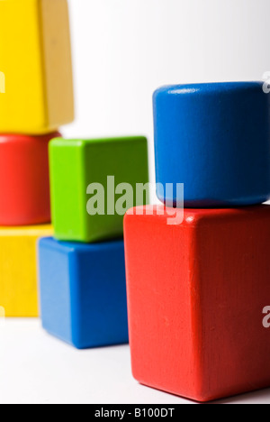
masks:
{"type": "MultiPolygon", "coordinates": [[[[154,89],[260,79],[270,70],[269,0],[69,4],[76,122],[63,128],[67,137],[146,134],[153,164],[154,89]]],[[[79,352],[49,337],[37,320],[1,323],[2,402],[189,403],[139,386],[130,375],[128,346],[79,352]]],[[[221,403],[270,404],[270,390],[221,403]]]]}

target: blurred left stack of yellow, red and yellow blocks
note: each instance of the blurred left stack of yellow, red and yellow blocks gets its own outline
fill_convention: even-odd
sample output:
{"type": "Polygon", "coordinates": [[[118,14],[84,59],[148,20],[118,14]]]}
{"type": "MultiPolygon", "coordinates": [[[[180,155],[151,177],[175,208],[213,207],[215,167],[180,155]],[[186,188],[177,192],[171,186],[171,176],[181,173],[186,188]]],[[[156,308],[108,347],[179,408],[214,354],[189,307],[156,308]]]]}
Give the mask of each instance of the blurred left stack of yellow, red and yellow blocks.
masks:
{"type": "Polygon", "coordinates": [[[0,307],[38,316],[36,241],[52,233],[49,140],[73,120],[67,0],[0,2],[0,307]]]}

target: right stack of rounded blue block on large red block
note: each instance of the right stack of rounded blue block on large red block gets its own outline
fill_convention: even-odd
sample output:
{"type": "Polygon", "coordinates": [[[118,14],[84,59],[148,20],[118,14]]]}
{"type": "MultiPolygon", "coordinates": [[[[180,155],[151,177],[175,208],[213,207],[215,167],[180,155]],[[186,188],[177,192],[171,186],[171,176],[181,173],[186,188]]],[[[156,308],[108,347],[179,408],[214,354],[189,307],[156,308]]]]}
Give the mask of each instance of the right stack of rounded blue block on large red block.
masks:
{"type": "Polygon", "coordinates": [[[142,384],[197,401],[270,385],[269,109],[257,82],[154,94],[157,196],[175,207],[182,198],[165,185],[184,183],[185,208],[175,208],[180,225],[167,224],[163,206],[125,217],[132,371],[142,384]]]}

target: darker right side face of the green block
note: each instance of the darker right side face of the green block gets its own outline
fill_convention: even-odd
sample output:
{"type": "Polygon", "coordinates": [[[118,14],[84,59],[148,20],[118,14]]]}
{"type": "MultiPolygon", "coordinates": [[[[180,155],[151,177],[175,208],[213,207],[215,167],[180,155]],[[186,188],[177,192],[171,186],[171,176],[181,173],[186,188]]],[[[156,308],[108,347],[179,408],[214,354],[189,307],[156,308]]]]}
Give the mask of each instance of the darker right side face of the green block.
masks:
{"type": "MultiPolygon", "coordinates": [[[[88,239],[121,237],[123,215],[136,205],[136,184],[148,183],[147,139],[138,137],[85,144],[85,186],[92,183],[102,185],[105,200],[103,215],[87,214],[88,239]]],[[[138,200],[138,205],[148,203],[148,197],[138,200]]],[[[93,209],[92,201],[93,195],[87,196],[88,210],[93,209]]]]}

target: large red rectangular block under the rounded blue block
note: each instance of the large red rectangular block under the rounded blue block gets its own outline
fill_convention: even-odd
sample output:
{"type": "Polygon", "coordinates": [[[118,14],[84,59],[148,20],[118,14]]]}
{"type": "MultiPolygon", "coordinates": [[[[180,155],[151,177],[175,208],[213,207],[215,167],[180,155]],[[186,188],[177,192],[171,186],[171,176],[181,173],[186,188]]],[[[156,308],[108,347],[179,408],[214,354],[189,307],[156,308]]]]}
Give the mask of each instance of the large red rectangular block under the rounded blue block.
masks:
{"type": "Polygon", "coordinates": [[[270,206],[185,209],[182,225],[157,209],[125,216],[135,379],[202,402],[269,387],[270,206]]]}

